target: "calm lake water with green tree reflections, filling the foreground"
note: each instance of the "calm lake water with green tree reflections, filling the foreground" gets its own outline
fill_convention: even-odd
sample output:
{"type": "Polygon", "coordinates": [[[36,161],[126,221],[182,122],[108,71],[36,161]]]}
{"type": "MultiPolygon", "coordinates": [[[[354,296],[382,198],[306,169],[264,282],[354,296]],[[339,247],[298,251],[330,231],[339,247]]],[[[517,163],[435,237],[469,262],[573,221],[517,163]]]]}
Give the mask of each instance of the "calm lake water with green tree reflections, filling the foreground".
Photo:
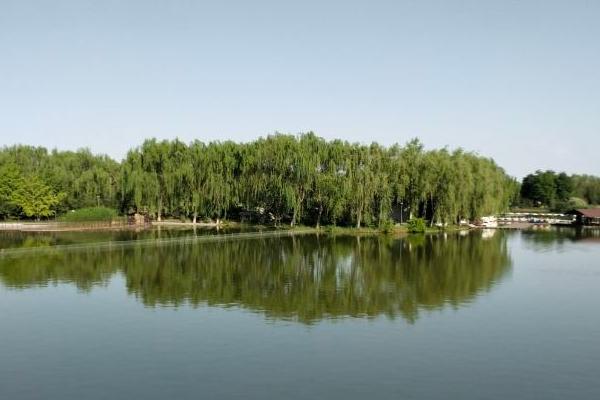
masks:
{"type": "Polygon", "coordinates": [[[0,398],[597,399],[599,306],[593,231],[8,254],[0,398]]]}

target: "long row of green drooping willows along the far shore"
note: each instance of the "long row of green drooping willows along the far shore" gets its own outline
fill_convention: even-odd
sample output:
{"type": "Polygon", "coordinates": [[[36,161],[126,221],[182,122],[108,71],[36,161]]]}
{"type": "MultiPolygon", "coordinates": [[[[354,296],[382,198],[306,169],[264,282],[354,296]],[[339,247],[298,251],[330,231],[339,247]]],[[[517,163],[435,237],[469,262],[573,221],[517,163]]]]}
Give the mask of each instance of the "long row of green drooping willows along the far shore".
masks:
{"type": "Polygon", "coordinates": [[[88,150],[14,146],[0,151],[0,177],[5,217],[23,214],[9,194],[31,181],[60,194],[57,213],[103,205],[157,220],[248,217],[357,227],[412,217],[475,219],[507,209],[519,193],[502,168],[474,153],[425,150],[416,139],[384,147],[313,133],[249,143],[151,139],[121,163],[88,150]]]}

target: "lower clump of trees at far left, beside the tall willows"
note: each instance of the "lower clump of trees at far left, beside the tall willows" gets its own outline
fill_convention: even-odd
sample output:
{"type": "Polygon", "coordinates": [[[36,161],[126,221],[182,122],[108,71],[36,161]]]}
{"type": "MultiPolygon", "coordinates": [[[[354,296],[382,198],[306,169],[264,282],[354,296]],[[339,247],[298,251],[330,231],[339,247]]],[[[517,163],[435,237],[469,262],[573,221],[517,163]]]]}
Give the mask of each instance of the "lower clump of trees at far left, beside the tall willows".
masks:
{"type": "Polygon", "coordinates": [[[48,151],[12,146],[0,150],[0,217],[47,217],[96,206],[117,208],[120,165],[89,150],[48,151]],[[37,211],[31,213],[34,202],[37,211]]]}

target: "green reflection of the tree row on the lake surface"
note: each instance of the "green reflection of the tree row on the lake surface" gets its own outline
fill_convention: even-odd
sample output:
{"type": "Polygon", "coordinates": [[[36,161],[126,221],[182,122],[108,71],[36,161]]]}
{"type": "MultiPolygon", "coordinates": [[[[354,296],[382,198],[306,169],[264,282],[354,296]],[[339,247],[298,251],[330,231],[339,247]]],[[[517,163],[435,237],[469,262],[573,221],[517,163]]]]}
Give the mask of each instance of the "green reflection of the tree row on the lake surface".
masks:
{"type": "Polygon", "coordinates": [[[172,243],[0,259],[11,288],[72,283],[82,291],[121,272],[150,307],[237,306],[269,318],[401,316],[459,307],[509,271],[506,236],[330,236],[172,243]]]}

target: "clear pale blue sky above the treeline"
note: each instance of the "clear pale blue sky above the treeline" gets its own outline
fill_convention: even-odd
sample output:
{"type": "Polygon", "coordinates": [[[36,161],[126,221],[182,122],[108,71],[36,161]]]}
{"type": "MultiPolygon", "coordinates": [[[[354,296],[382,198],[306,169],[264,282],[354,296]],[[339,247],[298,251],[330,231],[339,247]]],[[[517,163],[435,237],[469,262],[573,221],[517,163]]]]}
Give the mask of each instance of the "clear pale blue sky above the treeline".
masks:
{"type": "Polygon", "coordinates": [[[600,1],[0,0],[0,145],[308,130],[600,175],[600,1]]]}

